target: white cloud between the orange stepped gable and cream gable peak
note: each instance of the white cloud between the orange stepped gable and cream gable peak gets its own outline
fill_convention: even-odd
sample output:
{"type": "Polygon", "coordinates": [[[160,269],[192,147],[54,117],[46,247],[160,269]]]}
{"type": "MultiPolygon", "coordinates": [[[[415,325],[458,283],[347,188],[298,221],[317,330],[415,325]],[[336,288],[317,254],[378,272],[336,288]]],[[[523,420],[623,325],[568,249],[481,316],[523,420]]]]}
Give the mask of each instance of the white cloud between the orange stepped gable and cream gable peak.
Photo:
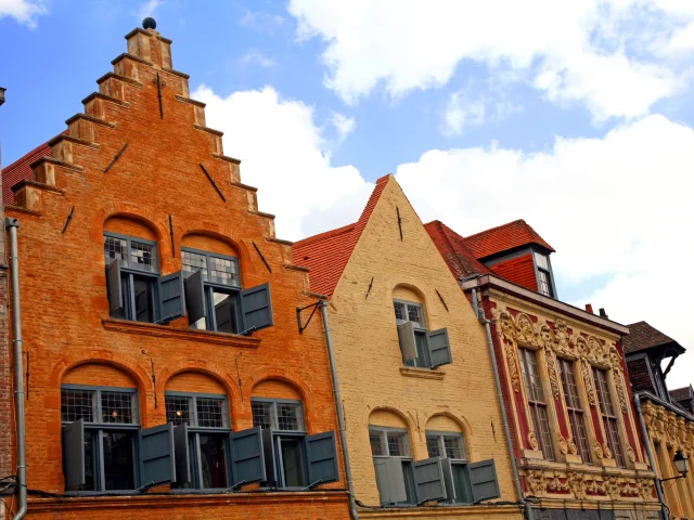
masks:
{"type": "Polygon", "coordinates": [[[220,98],[209,88],[207,125],[224,132],[224,153],[241,159],[244,183],[259,188],[262,211],[277,214],[281,238],[297,239],[356,221],[373,184],[352,166],[331,165],[313,109],[283,100],[271,87],[220,98]]]}

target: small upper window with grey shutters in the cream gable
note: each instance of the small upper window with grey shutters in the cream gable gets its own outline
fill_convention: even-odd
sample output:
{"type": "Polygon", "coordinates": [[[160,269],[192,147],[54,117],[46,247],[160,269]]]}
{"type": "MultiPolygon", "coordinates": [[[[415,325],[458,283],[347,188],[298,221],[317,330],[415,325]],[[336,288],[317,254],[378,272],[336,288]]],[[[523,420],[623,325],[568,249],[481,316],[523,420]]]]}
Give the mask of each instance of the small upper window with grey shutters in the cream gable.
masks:
{"type": "Polygon", "coordinates": [[[427,330],[421,303],[395,300],[393,304],[406,366],[436,368],[452,363],[447,328],[427,330]]]}

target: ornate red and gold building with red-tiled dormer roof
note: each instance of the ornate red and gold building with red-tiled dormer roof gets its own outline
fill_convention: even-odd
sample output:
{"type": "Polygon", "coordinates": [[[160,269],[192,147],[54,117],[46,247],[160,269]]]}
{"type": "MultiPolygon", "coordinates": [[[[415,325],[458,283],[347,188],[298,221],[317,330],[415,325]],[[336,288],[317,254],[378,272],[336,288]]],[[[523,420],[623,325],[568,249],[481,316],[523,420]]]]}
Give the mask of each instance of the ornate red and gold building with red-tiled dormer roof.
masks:
{"type": "Polygon", "coordinates": [[[524,222],[529,238],[513,224],[511,238],[490,230],[489,244],[512,242],[497,251],[479,235],[427,227],[480,320],[490,321],[525,499],[536,520],[659,518],[620,346],[628,328],[557,300],[551,248],[524,222]]]}

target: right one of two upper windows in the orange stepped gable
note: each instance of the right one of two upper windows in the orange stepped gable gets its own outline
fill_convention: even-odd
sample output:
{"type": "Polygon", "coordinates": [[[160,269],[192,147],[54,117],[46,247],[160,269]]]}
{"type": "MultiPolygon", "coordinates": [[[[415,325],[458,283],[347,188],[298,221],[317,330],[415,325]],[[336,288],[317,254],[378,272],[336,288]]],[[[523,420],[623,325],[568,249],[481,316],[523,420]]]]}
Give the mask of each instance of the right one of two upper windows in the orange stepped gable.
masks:
{"type": "Polygon", "coordinates": [[[270,286],[241,286],[235,257],[183,248],[185,307],[191,328],[245,334],[271,327],[270,286]]]}

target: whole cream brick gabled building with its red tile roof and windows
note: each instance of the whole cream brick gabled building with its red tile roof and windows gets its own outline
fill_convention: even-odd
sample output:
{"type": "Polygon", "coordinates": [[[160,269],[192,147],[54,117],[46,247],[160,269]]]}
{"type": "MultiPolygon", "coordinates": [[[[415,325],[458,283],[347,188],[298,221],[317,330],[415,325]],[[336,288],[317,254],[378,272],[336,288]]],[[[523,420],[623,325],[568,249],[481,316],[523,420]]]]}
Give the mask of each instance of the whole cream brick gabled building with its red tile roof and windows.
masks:
{"type": "Polygon", "coordinates": [[[360,517],[522,518],[485,329],[395,178],[294,259],[329,299],[360,517]],[[458,507],[398,508],[432,496],[458,507]]]}

